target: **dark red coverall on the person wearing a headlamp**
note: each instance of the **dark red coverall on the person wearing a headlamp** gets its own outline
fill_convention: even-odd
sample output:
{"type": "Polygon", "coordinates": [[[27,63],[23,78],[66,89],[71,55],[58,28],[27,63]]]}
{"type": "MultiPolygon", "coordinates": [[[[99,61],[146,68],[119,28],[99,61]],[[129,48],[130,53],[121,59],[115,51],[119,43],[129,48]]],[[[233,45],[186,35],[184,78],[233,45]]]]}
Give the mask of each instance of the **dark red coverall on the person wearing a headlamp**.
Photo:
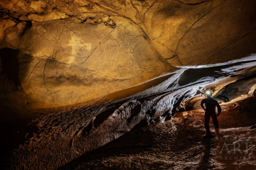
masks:
{"type": "Polygon", "coordinates": [[[221,107],[220,107],[219,103],[216,100],[212,99],[212,98],[206,98],[206,99],[202,100],[201,107],[205,110],[204,127],[206,129],[206,135],[211,135],[211,131],[210,131],[210,127],[209,127],[210,117],[212,117],[213,125],[214,125],[214,128],[215,128],[216,132],[219,133],[219,122],[218,122],[218,119],[217,119],[217,116],[219,116],[220,112],[221,112],[221,107]],[[205,104],[205,108],[204,108],[203,104],[205,104]],[[218,109],[218,114],[217,115],[216,115],[216,112],[215,112],[216,106],[217,106],[217,109],[218,109]]]}

